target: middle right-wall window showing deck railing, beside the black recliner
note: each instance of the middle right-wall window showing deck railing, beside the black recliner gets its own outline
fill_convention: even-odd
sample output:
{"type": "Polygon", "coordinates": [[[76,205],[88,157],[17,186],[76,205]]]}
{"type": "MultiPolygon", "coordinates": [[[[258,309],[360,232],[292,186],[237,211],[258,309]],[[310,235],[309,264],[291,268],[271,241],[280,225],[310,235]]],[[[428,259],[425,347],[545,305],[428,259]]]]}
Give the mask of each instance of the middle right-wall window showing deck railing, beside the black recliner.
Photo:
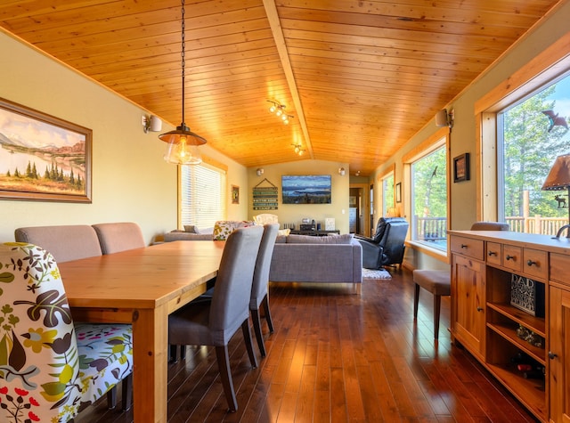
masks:
{"type": "Polygon", "coordinates": [[[411,240],[447,250],[445,138],[411,161],[411,240]]]}

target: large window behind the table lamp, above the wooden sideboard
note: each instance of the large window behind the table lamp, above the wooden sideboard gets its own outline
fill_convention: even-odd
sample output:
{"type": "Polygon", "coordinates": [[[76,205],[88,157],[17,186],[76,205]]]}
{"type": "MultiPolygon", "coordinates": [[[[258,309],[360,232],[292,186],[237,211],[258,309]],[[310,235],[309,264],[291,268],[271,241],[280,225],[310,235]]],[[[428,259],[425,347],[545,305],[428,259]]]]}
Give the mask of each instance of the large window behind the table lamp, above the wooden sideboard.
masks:
{"type": "Polygon", "coordinates": [[[556,157],[570,153],[568,123],[568,76],[497,113],[499,218],[511,231],[554,235],[568,222],[567,192],[542,191],[556,157]]]}

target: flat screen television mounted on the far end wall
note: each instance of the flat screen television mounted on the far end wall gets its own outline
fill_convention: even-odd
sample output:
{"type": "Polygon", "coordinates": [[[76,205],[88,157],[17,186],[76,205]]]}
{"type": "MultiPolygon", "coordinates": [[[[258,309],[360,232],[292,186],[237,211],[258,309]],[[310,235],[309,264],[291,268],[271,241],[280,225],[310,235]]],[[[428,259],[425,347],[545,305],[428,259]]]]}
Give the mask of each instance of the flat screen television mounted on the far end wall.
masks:
{"type": "Polygon", "coordinates": [[[283,204],[330,204],[330,175],[282,175],[283,204]]]}

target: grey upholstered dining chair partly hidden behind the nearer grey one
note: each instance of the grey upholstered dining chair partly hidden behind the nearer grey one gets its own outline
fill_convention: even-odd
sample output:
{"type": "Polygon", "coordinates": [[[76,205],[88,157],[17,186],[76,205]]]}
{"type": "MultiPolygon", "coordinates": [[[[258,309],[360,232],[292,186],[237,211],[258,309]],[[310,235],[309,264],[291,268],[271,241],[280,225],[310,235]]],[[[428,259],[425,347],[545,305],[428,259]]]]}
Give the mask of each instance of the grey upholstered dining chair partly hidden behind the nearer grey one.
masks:
{"type": "Polygon", "coordinates": [[[273,256],[273,248],[277,239],[279,224],[265,224],[264,235],[257,253],[256,269],[253,273],[253,286],[251,287],[251,298],[249,300],[249,311],[251,312],[251,320],[253,321],[253,329],[256,333],[257,346],[259,352],[265,357],[265,343],[261,331],[261,316],[259,307],[262,306],[265,313],[265,321],[269,332],[273,333],[273,321],[269,311],[269,291],[267,284],[269,283],[269,268],[271,266],[271,258],[273,256]]]}

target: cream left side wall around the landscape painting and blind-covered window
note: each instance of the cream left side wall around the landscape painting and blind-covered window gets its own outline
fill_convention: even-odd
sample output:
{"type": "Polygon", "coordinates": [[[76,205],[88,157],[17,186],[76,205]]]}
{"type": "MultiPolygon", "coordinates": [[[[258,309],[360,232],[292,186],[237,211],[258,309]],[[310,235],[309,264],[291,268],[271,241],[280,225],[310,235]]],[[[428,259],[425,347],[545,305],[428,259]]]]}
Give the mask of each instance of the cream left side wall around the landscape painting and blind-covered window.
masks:
{"type": "MultiPolygon", "coordinates": [[[[143,133],[144,110],[3,32],[0,51],[0,96],[93,130],[92,204],[0,199],[0,241],[20,226],[132,221],[148,243],[174,229],[176,167],[162,159],[158,134],[143,133]]],[[[247,202],[232,205],[229,187],[247,187],[246,168],[202,149],[228,166],[228,218],[245,219],[247,202]]]]}

